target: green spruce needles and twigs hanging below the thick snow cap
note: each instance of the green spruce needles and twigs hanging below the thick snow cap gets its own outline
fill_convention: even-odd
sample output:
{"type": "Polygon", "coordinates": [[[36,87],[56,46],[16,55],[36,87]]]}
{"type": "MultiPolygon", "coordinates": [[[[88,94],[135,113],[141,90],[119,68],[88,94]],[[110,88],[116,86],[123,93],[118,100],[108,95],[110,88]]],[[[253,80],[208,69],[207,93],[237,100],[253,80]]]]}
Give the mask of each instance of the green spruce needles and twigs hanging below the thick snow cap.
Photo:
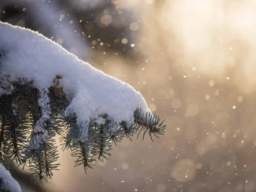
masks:
{"type": "Polygon", "coordinates": [[[58,146],[55,136],[61,135],[62,149],[70,149],[75,157],[75,166],[83,166],[87,173],[99,161],[111,156],[112,143],[117,145],[123,137],[131,138],[143,131],[159,137],[166,125],[160,117],[134,111],[134,122],[117,122],[102,116],[105,123],[97,124],[93,119],[77,122],[76,113],[69,107],[64,90],[60,87],[60,76],[56,76],[48,90],[38,90],[33,81],[19,78],[12,82],[12,94],[0,97],[0,163],[15,160],[18,166],[28,166],[42,185],[58,170],[58,146]]]}

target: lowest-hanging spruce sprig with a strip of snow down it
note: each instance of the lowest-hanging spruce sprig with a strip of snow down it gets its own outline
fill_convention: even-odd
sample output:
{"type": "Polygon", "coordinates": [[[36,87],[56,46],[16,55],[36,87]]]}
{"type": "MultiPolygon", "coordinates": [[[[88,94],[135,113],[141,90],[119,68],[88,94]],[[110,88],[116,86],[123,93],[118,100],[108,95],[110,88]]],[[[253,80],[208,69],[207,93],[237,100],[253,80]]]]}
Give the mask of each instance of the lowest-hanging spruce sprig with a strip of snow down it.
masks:
{"type": "Polygon", "coordinates": [[[26,162],[29,162],[35,179],[38,179],[39,183],[43,185],[49,178],[52,178],[52,170],[59,166],[59,163],[55,163],[58,160],[58,150],[53,137],[56,133],[60,134],[62,129],[55,126],[55,120],[51,119],[48,93],[46,91],[39,93],[39,91],[33,90],[29,94],[33,94],[29,101],[34,104],[31,111],[32,119],[34,119],[33,126],[36,126],[36,129],[31,134],[29,148],[25,152],[26,157],[22,163],[24,168],[26,162]]]}

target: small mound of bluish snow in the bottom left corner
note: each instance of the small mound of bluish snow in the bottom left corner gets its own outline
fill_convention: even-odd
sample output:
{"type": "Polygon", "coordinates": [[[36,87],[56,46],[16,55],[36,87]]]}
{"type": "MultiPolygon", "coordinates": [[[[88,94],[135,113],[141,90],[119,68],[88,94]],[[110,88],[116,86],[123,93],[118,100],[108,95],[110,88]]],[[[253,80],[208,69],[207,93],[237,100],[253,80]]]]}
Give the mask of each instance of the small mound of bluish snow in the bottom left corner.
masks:
{"type": "Polygon", "coordinates": [[[21,192],[19,183],[0,164],[0,191],[21,192]]]}

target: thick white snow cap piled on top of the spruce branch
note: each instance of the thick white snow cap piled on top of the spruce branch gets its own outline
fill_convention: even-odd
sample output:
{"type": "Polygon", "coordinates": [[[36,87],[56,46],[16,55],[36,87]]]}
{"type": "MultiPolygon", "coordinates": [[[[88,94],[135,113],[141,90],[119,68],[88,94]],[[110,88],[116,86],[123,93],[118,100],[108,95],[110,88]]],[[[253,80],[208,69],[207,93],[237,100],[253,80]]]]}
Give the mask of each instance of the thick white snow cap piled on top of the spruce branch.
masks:
{"type": "MultiPolygon", "coordinates": [[[[0,22],[0,50],[6,54],[0,58],[0,72],[10,75],[9,79],[28,78],[40,91],[54,84],[56,76],[70,100],[68,109],[77,115],[77,122],[104,122],[102,115],[117,122],[134,120],[134,111],[142,108],[149,112],[145,100],[130,85],[106,75],[90,64],[38,32],[0,22]]],[[[10,92],[9,90],[1,93],[10,92]]],[[[68,110],[67,109],[67,110],[68,110]]],[[[45,111],[41,123],[49,118],[45,111]]],[[[38,123],[36,131],[40,129],[38,123]]]]}

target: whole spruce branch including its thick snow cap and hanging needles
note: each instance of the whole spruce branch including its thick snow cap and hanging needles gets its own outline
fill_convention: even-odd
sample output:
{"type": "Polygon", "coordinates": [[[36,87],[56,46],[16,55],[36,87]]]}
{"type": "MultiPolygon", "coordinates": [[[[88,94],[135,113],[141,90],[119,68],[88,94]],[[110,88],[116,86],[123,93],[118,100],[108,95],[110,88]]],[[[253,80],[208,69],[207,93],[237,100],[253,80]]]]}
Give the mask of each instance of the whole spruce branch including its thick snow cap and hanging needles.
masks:
{"type": "Polygon", "coordinates": [[[166,128],[130,85],[37,32],[1,22],[0,79],[0,163],[28,166],[41,184],[58,169],[56,134],[86,172],[123,137],[152,139],[166,128]]]}

